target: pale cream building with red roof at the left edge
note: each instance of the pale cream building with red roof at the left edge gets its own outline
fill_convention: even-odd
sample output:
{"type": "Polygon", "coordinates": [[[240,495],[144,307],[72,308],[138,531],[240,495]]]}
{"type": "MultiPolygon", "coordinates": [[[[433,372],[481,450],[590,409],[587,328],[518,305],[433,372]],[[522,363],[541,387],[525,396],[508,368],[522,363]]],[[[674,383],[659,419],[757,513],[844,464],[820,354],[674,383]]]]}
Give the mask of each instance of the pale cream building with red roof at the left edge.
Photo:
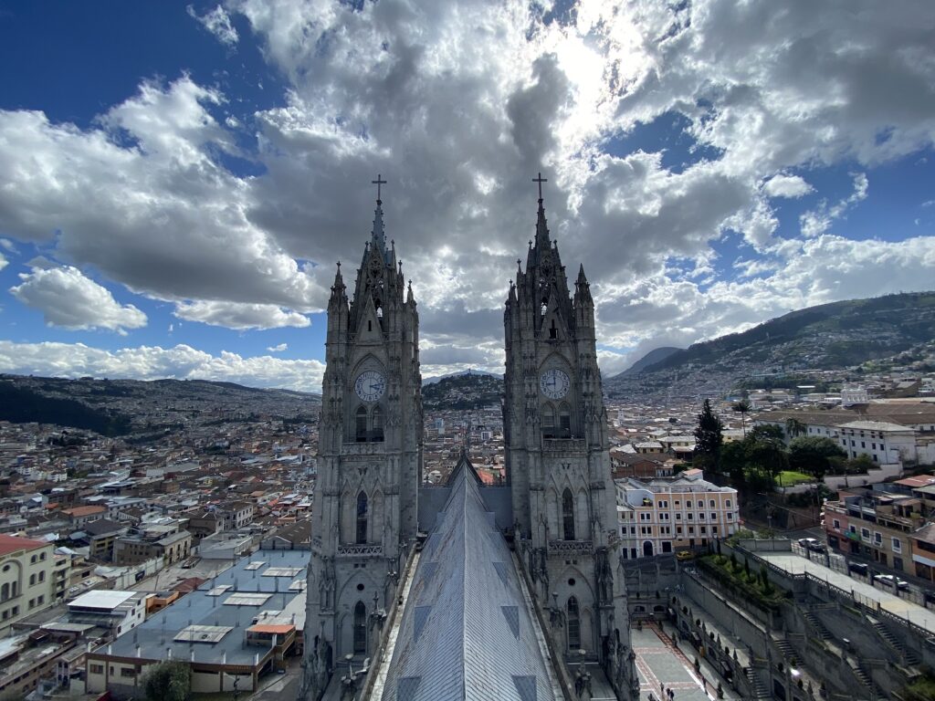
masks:
{"type": "Polygon", "coordinates": [[[69,563],[45,540],[0,534],[0,637],[65,595],[69,563]]]}

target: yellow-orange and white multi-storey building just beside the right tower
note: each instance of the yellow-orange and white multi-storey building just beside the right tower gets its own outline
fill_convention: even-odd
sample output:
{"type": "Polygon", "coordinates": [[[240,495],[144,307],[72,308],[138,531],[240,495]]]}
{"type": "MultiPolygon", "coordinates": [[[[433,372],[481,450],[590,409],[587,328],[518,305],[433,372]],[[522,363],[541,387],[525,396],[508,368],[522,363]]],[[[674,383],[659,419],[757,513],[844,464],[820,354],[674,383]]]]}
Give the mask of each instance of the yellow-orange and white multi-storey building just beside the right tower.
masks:
{"type": "Polygon", "coordinates": [[[704,479],[698,469],[671,479],[615,479],[626,559],[707,546],[740,527],[737,490],[704,479]]]}

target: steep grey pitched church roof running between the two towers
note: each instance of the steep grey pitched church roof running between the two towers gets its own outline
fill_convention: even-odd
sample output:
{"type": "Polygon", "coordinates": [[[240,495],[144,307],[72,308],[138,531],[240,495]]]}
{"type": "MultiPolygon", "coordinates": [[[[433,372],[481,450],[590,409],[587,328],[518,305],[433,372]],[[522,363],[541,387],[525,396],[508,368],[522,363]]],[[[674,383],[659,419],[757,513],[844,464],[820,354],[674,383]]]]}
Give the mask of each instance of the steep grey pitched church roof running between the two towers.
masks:
{"type": "Polygon", "coordinates": [[[554,698],[510,549],[459,463],[417,565],[382,701],[554,698]]]}

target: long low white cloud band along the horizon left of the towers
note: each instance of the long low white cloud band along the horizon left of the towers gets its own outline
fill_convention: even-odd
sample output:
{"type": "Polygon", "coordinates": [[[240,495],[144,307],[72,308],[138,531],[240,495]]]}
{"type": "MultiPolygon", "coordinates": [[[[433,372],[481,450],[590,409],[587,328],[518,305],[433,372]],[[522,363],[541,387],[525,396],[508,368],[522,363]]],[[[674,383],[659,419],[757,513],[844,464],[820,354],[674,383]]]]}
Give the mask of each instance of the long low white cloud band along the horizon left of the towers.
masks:
{"type": "Polygon", "coordinates": [[[210,355],[185,345],[110,351],[81,343],[0,341],[0,372],[66,378],[214,379],[250,387],[320,392],[324,363],[269,355],[244,358],[226,350],[210,355]]]}

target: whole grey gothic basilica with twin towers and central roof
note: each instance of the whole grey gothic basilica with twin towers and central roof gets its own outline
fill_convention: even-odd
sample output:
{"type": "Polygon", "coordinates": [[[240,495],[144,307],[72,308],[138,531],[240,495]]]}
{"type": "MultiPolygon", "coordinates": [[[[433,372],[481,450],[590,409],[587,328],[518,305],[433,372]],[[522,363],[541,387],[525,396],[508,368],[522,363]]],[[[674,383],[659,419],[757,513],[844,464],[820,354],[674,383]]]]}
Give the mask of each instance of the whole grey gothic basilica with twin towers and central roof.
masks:
{"type": "Polygon", "coordinates": [[[338,265],[300,699],[638,696],[594,301],[583,267],[569,288],[536,181],[504,309],[506,485],[467,453],[422,484],[418,306],[379,190],[350,294],[338,265]]]}

